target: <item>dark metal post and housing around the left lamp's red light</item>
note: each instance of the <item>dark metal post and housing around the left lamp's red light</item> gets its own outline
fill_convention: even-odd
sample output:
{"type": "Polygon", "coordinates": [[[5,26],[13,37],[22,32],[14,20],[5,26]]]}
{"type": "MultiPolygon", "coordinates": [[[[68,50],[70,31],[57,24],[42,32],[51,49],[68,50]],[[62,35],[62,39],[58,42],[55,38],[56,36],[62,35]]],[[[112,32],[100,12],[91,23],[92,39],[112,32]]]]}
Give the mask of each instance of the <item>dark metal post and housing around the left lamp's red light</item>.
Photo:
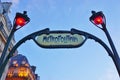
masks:
{"type": "Polygon", "coordinates": [[[11,39],[13,38],[13,35],[14,35],[15,31],[20,29],[21,27],[23,27],[25,25],[25,24],[24,25],[20,25],[20,24],[16,23],[16,19],[18,18],[18,16],[25,19],[25,24],[27,24],[30,21],[29,17],[27,17],[27,12],[26,11],[24,11],[23,14],[16,13],[16,17],[14,18],[14,22],[13,22],[13,28],[12,28],[12,30],[10,32],[10,35],[8,36],[7,42],[6,42],[5,47],[3,49],[2,55],[0,57],[0,78],[2,76],[2,73],[4,71],[4,67],[5,67],[3,65],[4,65],[4,63],[6,63],[5,62],[6,58],[9,55],[9,54],[7,54],[7,51],[8,51],[9,45],[11,43],[11,39]],[[20,26],[20,27],[18,27],[18,26],[20,26]]]}

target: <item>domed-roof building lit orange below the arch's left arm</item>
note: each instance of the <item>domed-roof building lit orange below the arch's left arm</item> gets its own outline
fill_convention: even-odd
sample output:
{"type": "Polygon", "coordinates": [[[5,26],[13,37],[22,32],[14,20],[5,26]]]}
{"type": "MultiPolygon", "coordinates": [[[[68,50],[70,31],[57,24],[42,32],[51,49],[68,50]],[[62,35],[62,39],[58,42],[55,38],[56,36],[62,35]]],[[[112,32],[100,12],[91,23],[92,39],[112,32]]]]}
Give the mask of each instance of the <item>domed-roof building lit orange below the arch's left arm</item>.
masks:
{"type": "Polygon", "coordinates": [[[25,56],[18,54],[11,58],[6,80],[39,80],[38,78],[35,67],[30,66],[25,56]]]}

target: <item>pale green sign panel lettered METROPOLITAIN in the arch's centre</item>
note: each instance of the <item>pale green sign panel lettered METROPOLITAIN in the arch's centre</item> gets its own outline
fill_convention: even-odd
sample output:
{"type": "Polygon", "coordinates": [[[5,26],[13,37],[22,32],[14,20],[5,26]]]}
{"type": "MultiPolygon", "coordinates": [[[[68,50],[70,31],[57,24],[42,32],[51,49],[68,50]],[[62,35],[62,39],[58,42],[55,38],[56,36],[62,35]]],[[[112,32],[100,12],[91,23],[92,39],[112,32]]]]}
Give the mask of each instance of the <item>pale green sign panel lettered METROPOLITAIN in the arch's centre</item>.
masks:
{"type": "Polygon", "coordinates": [[[79,34],[49,33],[37,36],[38,45],[44,48],[73,48],[79,47],[85,38],[79,34]]]}

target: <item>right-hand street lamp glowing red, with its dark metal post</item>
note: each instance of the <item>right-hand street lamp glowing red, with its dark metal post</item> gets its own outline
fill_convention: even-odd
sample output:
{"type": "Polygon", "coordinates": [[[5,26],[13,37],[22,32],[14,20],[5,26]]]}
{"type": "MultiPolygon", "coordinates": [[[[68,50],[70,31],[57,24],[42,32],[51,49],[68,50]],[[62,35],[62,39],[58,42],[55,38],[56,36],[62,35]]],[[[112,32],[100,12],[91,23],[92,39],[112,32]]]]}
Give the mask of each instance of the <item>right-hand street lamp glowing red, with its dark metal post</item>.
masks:
{"type": "Polygon", "coordinates": [[[109,44],[111,46],[111,49],[112,49],[112,53],[111,54],[111,58],[113,59],[113,62],[117,68],[117,71],[119,73],[119,76],[120,76],[120,58],[119,58],[119,55],[117,53],[117,50],[114,46],[114,43],[111,39],[111,36],[106,28],[106,18],[104,16],[104,14],[102,13],[102,11],[100,12],[95,12],[95,11],[92,11],[92,16],[89,18],[89,20],[95,25],[97,26],[98,28],[102,29],[109,41],[109,44]]]}

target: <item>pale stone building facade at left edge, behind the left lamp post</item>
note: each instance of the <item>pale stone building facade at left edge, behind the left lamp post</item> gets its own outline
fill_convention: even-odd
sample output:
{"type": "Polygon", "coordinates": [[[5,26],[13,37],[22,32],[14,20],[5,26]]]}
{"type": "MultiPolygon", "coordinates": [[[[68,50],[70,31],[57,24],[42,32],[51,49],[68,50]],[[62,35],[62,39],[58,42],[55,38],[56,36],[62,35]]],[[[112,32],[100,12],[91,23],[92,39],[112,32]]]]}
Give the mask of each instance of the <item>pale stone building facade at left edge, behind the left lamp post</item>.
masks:
{"type": "MultiPolygon", "coordinates": [[[[12,24],[8,17],[9,8],[11,5],[12,5],[11,2],[0,1],[0,56],[2,55],[2,51],[5,47],[6,41],[12,29],[12,24]]],[[[7,53],[9,53],[9,51],[11,50],[14,44],[15,44],[15,40],[13,37],[7,53]]],[[[1,80],[5,79],[7,70],[8,70],[8,65],[5,67],[1,80]]]]}

